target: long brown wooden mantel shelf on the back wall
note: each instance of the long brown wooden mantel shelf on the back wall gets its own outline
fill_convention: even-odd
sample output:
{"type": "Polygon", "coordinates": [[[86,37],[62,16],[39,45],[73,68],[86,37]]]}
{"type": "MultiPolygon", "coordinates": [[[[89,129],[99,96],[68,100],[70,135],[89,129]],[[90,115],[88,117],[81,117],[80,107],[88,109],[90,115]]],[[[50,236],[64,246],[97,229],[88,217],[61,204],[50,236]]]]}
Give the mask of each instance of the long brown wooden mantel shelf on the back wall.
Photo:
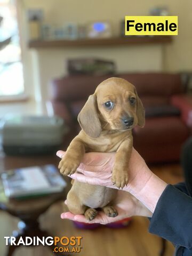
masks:
{"type": "Polygon", "coordinates": [[[127,36],[98,39],[78,40],[50,40],[30,41],[29,48],[57,48],[57,47],[91,47],[91,46],[119,46],[138,44],[165,44],[172,41],[171,36],[127,36]]]}

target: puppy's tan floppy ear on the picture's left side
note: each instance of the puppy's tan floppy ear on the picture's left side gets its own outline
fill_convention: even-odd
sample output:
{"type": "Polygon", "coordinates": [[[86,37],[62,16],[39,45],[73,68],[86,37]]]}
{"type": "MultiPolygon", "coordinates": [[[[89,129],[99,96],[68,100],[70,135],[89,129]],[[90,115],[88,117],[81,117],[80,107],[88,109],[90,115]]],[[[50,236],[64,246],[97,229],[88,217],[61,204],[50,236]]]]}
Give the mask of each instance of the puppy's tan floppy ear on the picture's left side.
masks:
{"type": "Polygon", "coordinates": [[[98,117],[97,98],[90,95],[81,112],[78,114],[78,122],[82,130],[90,137],[97,138],[101,133],[101,123],[98,117]]]}

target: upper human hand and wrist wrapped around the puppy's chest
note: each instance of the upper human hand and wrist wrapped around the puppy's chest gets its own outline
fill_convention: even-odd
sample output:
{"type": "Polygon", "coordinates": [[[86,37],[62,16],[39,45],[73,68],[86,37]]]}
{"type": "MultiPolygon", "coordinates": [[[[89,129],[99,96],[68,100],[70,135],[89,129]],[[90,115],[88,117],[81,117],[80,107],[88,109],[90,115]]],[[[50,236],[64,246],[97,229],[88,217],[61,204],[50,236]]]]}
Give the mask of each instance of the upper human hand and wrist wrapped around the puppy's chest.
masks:
{"type": "MultiPolygon", "coordinates": [[[[65,157],[65,154],[64,151],[57,152],[60,158],[65,157]]],[[[115,153],[86,153],[77,169],[78,172],[70,177],[91,185],[118,189],[111,181],[114,162],[115,153]]],[[[154,212],[165,187],[166,183],[149,170],[143,158],[133,148],[129,162],[129,183],[123,190],[131,193],[151,212],[154,212]]]]}

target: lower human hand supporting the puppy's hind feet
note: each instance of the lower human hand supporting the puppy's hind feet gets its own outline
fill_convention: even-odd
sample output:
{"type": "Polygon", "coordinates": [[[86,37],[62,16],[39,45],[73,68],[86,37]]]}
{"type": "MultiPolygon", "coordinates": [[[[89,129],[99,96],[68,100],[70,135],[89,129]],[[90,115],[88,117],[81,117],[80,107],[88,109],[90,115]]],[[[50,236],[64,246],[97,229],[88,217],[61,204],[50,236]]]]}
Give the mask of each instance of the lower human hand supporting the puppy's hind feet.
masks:
{"type": "MultiPolygon", "coordinates": [[[[66,201],[67,204],[67,201],[66,201]]],[[[114,201],[115,209],[118,212],[118,215],[115,218],[107,217],[104,212],[99,211],[95,219],[89,221],[85,218],[83,214],[74,215],[71,212],[63,212],[61,214],[61,219],[69,219],[79,222],[87,223],[100,223],[108,224],[111,222],[123,220],[132,216],[145,216],[151,217],[152,213],[145,207],[137,198],[132,196],[130,193],[118,190],[117,197],[114,201]]]]}

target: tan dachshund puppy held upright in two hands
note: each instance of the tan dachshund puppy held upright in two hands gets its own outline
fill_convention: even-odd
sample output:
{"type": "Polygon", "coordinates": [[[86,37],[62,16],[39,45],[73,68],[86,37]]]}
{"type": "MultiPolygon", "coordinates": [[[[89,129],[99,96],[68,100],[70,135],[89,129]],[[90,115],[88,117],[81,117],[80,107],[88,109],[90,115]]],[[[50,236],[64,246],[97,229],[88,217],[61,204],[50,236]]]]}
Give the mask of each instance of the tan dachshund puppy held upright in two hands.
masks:
{"type": "MultiPolygon", "coordinates": [[[[135,87],[125,79],[112,77],[100,83],[78,115],[82,130],[71,141],[59,163],[61,174],[76,172],[87,152],[116,152],[112,181],[123,188],[129,181],[132,129],[145,125],[145,110],[135,87]]],[[[118,213],[113,207],[117,190],[73,181],[67,195],[69,211],[93,220],[98,208],[108,217],[118,213]]]]}

